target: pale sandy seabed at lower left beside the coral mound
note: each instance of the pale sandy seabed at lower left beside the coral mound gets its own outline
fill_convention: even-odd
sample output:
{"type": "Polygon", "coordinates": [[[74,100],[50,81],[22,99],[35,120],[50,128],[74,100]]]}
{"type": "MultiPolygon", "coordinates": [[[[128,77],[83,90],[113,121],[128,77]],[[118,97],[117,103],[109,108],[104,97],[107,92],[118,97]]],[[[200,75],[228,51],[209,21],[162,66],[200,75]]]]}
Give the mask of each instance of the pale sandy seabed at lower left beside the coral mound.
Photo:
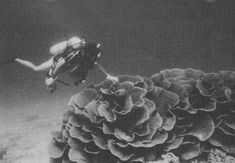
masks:
{"type": "Polygon", "coordinates": [[[0,108],[0,163],[49,162],[50,131],[59,129],[64,111],[39,106],[0,108]]]}

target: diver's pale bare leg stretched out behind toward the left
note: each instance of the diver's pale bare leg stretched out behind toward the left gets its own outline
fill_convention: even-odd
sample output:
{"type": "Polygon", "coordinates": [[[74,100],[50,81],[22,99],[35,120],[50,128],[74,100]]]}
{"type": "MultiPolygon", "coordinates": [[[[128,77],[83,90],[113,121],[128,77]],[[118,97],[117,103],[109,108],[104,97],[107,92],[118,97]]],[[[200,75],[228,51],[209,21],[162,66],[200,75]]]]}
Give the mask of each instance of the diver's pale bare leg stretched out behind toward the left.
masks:
{"type": "Polygon", "coordinates": [[[19,59],[19,58],[16,58],[15,61],[25,67],[28,67],[34,71],[48,71],[50,69],[50,67],[52,66],[53,64],[53,59],[49,59],[48,61],[36,66],[34,65],[32,62],[30,61],[26,61],[26,60],[23,60],[23,59],[19,59]]]}

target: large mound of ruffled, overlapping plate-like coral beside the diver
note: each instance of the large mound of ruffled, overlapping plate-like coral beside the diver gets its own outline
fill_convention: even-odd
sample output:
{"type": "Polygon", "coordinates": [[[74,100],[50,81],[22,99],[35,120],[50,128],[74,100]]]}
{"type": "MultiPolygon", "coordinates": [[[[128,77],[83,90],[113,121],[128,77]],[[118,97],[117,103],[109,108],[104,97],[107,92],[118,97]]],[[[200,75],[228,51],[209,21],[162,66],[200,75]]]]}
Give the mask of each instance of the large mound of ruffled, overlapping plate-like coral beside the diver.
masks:
{"type": "Polygon", "coordinates": [[[190,160],[211,148],[235,153],[235,73],[169,69],[151,78],[105,80],[69,101],[52,160],[148,162],[172,152],[190,160]]]}

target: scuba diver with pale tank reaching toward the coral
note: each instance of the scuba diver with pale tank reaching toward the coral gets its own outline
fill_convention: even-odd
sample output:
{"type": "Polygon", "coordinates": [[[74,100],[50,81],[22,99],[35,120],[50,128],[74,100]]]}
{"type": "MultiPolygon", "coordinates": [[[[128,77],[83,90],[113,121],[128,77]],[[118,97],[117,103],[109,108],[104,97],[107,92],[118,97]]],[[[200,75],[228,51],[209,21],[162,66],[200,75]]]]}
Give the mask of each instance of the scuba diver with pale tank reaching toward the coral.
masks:
{"type": "Polygon", "coordinates": [[[36,72],[47,72],[45,84],[47,90],[53,93],[56,90],[56,81],[69,85],[58,79],[61,72],[68,73],[75,78],[75,85],[84,83],[88,72],[97,65],[99,69],[106,75],[106,79],[118,82],[118,78],[108,74],[105,69],[97,63],[101,51],[100,44],[86,42],[85,39],[72,37],[69,40],[60,42],[50,48],[52,57],[40,65],[35,65],[30,61],[14,57],[5,63],[16,62],[20,65],[28,67],[36,72]]]}

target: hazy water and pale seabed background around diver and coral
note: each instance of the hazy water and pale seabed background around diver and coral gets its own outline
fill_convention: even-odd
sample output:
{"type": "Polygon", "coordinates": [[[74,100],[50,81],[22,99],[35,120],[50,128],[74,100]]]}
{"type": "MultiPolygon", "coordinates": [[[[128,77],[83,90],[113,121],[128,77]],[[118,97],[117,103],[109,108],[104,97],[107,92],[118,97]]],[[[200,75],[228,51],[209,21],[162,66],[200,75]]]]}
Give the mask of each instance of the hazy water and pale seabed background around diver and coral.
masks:
{"type": "MultiPolygon", "coordinates": [[[[113,75],[234,70],[234,15],[231,0],[1,0],[0,60],[40,64],[50,46],[78,35],[102,44],[100,63],[113,75]]],[[[85,85],[59,85],[51,95],[44,76],[16,64],[0,68],[3,162],[48,160],[49,132],[60,126],[71,95],[104,79],[94,69],[85,85]]]]}

